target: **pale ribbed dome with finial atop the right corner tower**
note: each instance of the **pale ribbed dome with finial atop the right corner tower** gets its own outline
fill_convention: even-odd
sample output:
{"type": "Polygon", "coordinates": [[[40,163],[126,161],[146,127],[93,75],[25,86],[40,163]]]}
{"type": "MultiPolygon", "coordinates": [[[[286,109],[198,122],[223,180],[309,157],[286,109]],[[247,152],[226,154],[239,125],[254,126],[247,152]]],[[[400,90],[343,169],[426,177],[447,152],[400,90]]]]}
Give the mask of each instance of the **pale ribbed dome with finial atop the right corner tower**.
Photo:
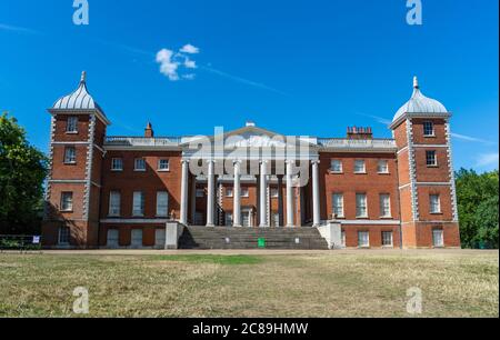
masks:
{"type": "Polygon", "coordinates": [[[403,117],[407,114],[413,117],[449,117],[447,108],[439,101],[423,96],[420,91],[419,81],[417,77],[413,78],[413,94],[409,101],[407,101],[399,110],[396,112],[394,119],[391,126],[397,126],[403,117]]]}

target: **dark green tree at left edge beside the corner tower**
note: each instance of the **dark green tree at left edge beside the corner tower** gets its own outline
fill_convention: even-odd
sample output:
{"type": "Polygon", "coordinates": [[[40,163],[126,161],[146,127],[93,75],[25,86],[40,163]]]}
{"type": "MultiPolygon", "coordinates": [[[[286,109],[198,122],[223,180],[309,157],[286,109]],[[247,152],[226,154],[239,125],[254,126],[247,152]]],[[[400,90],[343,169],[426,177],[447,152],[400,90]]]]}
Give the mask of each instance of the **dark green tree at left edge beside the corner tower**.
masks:
{"type": "Polygon", "coordinates": [[[0,233],[39,232],[46,156],[7,112],[0,116],[0,233]]]}

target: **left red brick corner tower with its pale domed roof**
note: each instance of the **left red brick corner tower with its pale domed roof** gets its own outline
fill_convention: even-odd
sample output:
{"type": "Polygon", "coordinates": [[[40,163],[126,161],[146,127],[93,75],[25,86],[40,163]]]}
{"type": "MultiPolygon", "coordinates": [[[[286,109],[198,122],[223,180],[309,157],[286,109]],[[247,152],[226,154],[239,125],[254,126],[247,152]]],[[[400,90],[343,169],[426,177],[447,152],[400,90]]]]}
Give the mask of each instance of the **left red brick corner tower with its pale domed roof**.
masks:
{"type": "Polygon", "coordinates": [[[56,101],[49,112],[43,246],[97,247],[103,143],[110,122],[87,90],[86,72],[77,90],[56,101]]]}

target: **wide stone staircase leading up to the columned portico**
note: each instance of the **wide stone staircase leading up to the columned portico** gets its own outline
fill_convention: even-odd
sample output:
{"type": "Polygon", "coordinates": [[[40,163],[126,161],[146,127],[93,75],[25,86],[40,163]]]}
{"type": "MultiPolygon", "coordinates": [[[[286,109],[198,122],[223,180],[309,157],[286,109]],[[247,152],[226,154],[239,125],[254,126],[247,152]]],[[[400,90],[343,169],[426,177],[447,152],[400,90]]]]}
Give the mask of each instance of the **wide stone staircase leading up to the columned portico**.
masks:
{"type": "Polygon", "coordinates": [[[266,239],[266,249],[328,249],[318,229],[310,227],[186,227],[179,249],[259,249],[259,238],[266,239]]]}

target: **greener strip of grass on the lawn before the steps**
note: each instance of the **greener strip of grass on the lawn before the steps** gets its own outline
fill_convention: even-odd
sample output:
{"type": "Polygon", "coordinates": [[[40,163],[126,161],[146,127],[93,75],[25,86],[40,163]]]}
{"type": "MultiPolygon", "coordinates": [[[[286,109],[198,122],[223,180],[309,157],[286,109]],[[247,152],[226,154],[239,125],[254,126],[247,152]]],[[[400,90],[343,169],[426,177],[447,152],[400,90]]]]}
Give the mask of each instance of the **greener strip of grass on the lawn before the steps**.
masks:
{"type": "Polygon", "coordinates": [[[256,256],[218,256],[218,254],[184,254],[184,256],[156,256],[160,261],[186,261],[193,263],[216,263],[226,266],[258,264],[263,262],[261,257],[256,256]]]}

